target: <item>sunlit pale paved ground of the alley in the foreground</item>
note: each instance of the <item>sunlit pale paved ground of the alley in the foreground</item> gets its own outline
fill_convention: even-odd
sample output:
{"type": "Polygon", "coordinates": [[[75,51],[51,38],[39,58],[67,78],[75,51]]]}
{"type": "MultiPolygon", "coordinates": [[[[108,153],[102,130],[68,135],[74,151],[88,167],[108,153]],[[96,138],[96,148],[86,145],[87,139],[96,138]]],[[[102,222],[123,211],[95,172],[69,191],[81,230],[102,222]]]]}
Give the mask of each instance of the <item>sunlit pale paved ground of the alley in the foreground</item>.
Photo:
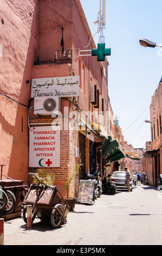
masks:
{"type": "Polygon", "coordinates": [[[32,229],[23,218],[5,221],[4,245],[162,245],[162,190],[102,194],[94,205],[76,204],[58,229],[38,219],[32,229]]]}

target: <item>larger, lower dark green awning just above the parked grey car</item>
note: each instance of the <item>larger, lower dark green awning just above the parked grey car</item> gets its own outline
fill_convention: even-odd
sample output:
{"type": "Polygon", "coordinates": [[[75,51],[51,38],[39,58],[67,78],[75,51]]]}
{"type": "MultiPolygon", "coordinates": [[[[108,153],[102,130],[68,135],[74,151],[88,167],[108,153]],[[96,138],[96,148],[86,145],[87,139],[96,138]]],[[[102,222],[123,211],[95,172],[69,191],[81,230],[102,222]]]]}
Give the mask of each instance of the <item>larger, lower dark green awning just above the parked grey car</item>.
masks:
{"type": "Polygon", "coordinates": [[[109,162],[115,162],[121,158],[125,158],[125,150],[121,147],[120,143],[116,139],[112,139],[111,136],[108,139],[104,139],[102,144],[102,156],[106,157],[109,162]]]}

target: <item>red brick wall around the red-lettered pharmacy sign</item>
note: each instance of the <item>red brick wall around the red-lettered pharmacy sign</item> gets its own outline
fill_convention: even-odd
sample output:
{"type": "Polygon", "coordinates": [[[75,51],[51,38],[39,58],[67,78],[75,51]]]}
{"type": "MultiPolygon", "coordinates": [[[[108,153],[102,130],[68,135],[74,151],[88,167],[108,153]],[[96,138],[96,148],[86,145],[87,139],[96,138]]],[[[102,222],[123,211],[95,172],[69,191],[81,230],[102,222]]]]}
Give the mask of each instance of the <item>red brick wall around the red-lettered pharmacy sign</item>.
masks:
{"type": "MultiPolygon", "coordinates": [[[[70,121],[71,119],[69,119],[70,121]]],[[[54,119],[51,118],[37,118],[30,120],[30,125],[32,123],[52,123],[54,119]]],[[[64,125],[64,123],[62,124],[64,125]]],[[[40,125],[41,126],[41,125],[40,125]]],[[[64,126],[63,126],[64,127],[64,126]]],[[[78,164],[78,159],[75,157],[75,147],[79,147],[79,131],[77,130],[61,130],[61,141],[60,141],[60,167],[57,168],[45,168],[45,173],[51,173],[55,175],[55,183],[59,188],[59,191],[63,196],[66,195],[64,191],[64,183],[68,178],[68,175],[71,174],[78,164]]],[[[38,168],[34,168],[36,172],[38,168]]],[[[29,172],[32,172],[32,168],[29,168],[29,172]]],[[[30,176],[29,176],[30,180],[30,176]]],[[[74,176],[70,184],[70,193],[69,196],[76,196],[77,186],[79,185],[79,172],[74,176]]]]}

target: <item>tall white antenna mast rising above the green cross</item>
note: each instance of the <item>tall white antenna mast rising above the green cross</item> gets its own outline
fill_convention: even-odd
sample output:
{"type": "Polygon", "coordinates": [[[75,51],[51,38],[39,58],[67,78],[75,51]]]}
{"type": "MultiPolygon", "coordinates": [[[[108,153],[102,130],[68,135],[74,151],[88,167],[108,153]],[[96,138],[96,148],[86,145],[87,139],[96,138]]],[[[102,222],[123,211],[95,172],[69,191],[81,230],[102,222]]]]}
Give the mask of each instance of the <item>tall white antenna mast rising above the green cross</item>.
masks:
{"type": "Polygon", "coordinates": [[[103,36],[103,28],[105,28],[105,24],[106,24],[106,0],[100,0],[100,10],[98,12],[98,20],[93,21],[93,24],[94,25],[98,24],[98,31],[96,33],[99,33],[99,42],[105,42],[105,36],[103,36]],[[102,11],[101,11],[101,2],[102,2],[102,11]]]}

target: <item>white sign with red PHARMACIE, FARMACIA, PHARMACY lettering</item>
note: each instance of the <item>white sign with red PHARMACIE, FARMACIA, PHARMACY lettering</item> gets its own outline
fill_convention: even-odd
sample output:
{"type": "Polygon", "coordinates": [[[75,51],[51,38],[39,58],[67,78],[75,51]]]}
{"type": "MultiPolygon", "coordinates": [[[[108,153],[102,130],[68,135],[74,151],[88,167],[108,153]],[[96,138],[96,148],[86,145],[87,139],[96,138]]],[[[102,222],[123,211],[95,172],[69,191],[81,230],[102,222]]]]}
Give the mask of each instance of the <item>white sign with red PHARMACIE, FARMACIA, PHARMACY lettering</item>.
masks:
{"type": "Polygon", "coordinates": [[[60,126],[31,127],[29,167],[60,167],[60,126]]]}

